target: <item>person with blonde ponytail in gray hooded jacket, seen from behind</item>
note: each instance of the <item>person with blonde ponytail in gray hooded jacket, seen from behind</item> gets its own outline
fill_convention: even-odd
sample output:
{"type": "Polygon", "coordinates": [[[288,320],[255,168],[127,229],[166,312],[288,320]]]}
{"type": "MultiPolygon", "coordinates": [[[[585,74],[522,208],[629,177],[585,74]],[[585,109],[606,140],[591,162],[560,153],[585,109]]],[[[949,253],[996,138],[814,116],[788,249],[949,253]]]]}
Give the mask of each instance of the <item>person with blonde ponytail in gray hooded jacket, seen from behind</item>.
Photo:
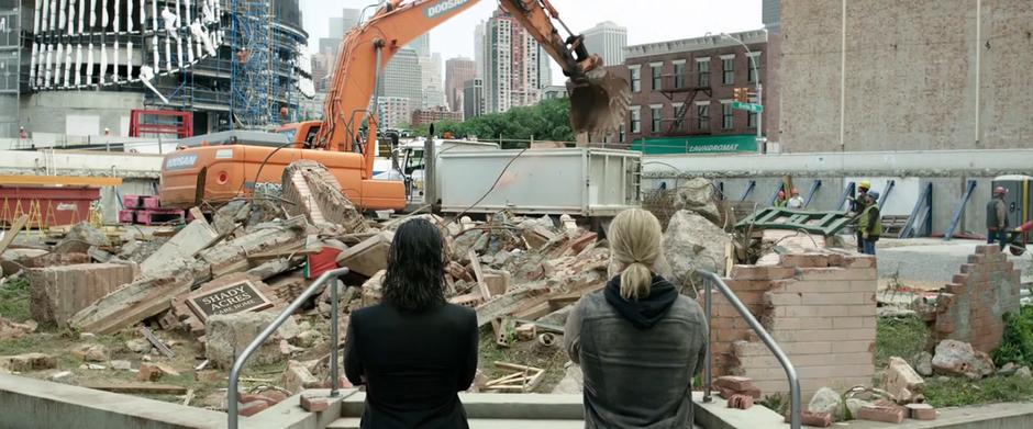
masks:
{"type": "Polygon", "coordinates": [[[586,428],[691,428],[692,376],[707,359],[707,320],[696,301],[655,273],[660,225],[633,208],[610,224],[611,272],[581,297],[564,343],[585,373],[586,428]]]}

